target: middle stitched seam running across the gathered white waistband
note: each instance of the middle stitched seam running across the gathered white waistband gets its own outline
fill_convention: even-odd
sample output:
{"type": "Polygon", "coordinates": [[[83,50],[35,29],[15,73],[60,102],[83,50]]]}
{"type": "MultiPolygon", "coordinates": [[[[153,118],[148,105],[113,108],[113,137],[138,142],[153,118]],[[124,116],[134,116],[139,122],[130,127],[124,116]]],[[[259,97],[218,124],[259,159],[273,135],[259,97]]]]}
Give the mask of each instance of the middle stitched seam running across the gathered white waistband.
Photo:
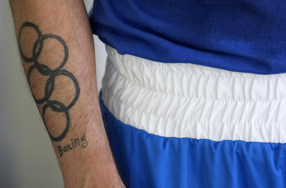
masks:
{"type": "Polygon", "coordinates": [[[128,84],[130,83],[131,85],[135,85],[135,86],[138,86],[140,88],[145,88],[146,90],[148,91],[154,91],[154,92],[158,92],[160,94],[166,94],[166,95],[171,95],[171,96],[175,96],[175,97],[184,97],[184,98],[196,98],[198,100],[200,99],[204,99],[204,100],[221,100],[221,101],[234,101],[234,102],[272,102],[272,101],[282,101],[282,100],[286,100],[286,98],[282,98],[282,99],[273,99],[273,100],[234,100],[234,99],[222,99],[222,98],[219,98],[219,99],[215,99],[215,98],[206,98],[206,97],[196,97],[194,95],[192,96],[184,96],[183,94],[182,95],[176,95],[176,94],[170,94],[170,93],[164,93],[164,92],[160,92],[160,91],[155,91],[155,90],[152,90],[150,88],[147,88],[146,86],[141,86],[139,84],[137,84],[136,82],[132,82],[130,79],[127,79],[125,76],[123,76],[121,74],[121,72],[116,68],[116,66],[114,66],[116,71],[119,72],[119,76],[123,77],[124,80],[126,80],[128,82],[128,84]]]}

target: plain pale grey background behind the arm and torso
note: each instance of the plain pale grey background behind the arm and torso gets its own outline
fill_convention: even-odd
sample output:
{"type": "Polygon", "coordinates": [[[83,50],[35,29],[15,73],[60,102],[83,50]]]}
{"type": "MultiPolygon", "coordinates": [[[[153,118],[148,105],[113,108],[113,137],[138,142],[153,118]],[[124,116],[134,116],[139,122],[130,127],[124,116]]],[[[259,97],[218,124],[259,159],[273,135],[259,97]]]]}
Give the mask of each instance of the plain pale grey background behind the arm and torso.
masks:
{"type": "MultiPolygon", "coordinates": [[[[85,0],[89,11],[92,0],[85,0]]],[[[97,86],[106,51],[94,36],[97,86]]],[[[64,187],[49,136],[28,90],[8,0],[0,1],[0,187],[64,187]]]]}

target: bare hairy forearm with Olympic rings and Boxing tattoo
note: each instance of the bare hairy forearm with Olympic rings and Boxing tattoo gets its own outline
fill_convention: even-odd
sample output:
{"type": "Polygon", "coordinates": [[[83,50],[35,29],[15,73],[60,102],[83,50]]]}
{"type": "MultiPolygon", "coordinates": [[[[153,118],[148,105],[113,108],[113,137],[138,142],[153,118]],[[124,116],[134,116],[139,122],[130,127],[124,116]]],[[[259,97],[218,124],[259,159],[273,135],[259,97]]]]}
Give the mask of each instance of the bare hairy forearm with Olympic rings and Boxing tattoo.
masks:
{"type": "Polygon", "coordinates": [[[123,186],[103,127],[82,0],[10,0],[24,72],[66,187],[123,186]]]}

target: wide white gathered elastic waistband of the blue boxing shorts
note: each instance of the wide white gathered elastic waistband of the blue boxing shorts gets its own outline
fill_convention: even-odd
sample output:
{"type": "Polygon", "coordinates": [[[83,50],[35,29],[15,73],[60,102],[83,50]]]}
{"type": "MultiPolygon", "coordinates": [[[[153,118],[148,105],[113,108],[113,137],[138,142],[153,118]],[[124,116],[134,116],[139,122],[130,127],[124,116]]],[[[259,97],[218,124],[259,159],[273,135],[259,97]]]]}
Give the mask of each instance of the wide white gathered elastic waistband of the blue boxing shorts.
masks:
{"type": "Polygon", "coordinates": [[[165,137],[286,142],[286,74],[159,63],[106,50],[102,100],[121,122],[165,137]]]}

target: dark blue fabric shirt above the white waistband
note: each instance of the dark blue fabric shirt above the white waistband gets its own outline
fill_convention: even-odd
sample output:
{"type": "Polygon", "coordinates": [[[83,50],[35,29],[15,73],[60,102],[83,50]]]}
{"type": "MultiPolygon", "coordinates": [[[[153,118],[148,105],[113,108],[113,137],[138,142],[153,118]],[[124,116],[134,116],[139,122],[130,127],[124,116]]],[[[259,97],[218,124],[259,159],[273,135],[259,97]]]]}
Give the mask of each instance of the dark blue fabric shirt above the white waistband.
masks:
{"type": "Polygon", "coordinates": [[[236,72],[286,72],[285,0],[95,0],[94,34],[120,54],[236,72]]]}

